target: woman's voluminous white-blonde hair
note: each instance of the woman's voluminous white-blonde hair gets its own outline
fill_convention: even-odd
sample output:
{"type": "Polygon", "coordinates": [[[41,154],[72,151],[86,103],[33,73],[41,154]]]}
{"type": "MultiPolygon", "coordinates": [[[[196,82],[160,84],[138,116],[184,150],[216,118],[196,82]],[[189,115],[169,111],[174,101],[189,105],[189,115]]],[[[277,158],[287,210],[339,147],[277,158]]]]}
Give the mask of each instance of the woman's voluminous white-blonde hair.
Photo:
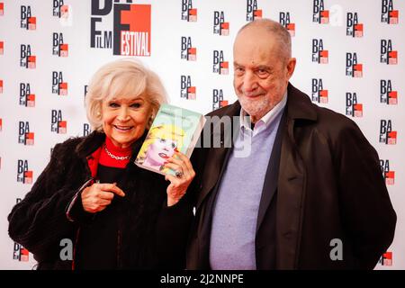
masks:
{"type": "Polygon", "coordinates": [[[151,105],[149,129],[161,103],[166,103],[166,90],[156,73],[139,60],[123,58],[100,67],[92,77],[85,94],[87,119],[93,130],[103,131],[103,100],[112,97],[142,97],[151,105]]]}

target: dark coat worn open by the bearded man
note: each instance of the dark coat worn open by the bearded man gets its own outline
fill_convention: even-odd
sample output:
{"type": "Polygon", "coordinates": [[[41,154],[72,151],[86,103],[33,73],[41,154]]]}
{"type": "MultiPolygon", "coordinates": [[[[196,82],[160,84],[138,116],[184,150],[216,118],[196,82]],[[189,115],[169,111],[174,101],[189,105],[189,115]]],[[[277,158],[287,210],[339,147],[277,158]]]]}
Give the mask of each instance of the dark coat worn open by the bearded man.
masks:
{"type": "MultiPolygon", "coordinates": [[[[275,140],[280,153],[270,158],[257,216],[257,269],[373,268],[391,245],[396,223],[375,149],[354,121],[311,103],[293,85],[285,109],[284,132],[279,144],[275,140]],[[342,260],[330,257],[336,238],[342,260]]],[[[239,111],[237,102],[210,116],[239,111]]],[[[211,130],[211,138],[227,143],[218,131],[211,130]]],[[[229,153],[223,146],[199,149],[196,157],[201,179],[188,269],[210,268],[212,199],[229,153]]]]}

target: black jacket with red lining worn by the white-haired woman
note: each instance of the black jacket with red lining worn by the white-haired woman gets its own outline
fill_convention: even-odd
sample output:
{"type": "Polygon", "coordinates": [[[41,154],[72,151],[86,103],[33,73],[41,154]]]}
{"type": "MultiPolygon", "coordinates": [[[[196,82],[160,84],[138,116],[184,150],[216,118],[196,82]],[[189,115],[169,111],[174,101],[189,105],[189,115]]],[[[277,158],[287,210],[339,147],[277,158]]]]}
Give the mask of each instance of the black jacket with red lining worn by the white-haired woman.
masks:
{"type": "MultiPolygon", "coordinates": [[[[34,255],[39,269],[71,269],[72,261],[59,257],[60,241],[67,238],[76,245],[78,231],[85,229],[89,219],[67,220],[67,206],[91,178],[87,158],[104,139],[105,134],[93,132],[85,138],[67,139],[56,145],[48,166],[33,184],[31,192],[8,216],[10,237],[34,255]]],[[[142,139],[134,144],[124,180],[118,184],[124,192],[131,192],[128,193],[130,197],[121,199],[127,202],[128,209],[121,213],[119,267],[181,269],[184,268],[185,242],[193,213],[186,196],[167,208],[168,182],[164,176],[133,164],[142,139]]]]}

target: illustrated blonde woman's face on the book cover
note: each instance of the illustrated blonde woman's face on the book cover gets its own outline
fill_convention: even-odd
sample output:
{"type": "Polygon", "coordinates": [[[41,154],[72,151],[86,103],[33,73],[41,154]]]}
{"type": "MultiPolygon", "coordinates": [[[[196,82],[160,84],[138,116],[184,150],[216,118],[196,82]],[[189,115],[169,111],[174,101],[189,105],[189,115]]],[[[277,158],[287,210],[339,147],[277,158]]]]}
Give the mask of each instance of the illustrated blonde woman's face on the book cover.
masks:
{"type": "MultiPolygon", "coordinates": [[[[183,145],[184,130],[174,125],[159,125],[153,127],[149,133],[145,144],[142,147],[145,156],[143,165],[164,171],[164,165],[169,157],[175,154],[176,149],[183,145]]],[[[143,154],[143,153],[142,153],[143,154]]]]}

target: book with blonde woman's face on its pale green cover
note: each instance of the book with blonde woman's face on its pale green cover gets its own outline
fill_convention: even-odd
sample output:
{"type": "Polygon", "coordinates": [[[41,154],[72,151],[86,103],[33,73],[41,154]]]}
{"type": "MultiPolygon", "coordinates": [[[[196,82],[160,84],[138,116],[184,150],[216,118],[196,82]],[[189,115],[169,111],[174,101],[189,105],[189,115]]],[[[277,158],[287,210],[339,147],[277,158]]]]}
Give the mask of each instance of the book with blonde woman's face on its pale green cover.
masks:
{"type": "Polygon", "coordinates": [[[135,164],[162,175],[175,175],[173,169],[164,166],[166,159],[172,157],[175,150],[190,158],[205,121],[201,113],[162,104],[148,130],[135,164]]]}

